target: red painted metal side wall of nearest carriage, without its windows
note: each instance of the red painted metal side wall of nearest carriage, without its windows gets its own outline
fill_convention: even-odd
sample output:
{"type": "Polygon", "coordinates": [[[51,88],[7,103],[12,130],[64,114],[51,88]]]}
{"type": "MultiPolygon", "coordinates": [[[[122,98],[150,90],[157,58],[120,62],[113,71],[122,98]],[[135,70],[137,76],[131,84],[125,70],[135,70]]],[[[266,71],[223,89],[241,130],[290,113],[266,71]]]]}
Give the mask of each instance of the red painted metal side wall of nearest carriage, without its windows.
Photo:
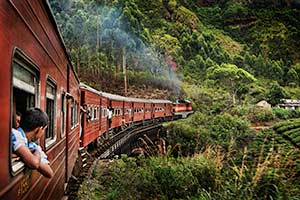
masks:
{"type": "MultiPolygon", "coordinates": [[[[56,103],[56,141],[46,151],[54,177],[43,178],[32,170],[23,170],[16,176],[11,175],[10,162],[10,134],[11,134],[11,63],[13,50],[18,47],[23,54],[39,68],[40,101],[42,109],[46,108],[46,78],[50,76],[60,93],[67,89],[67,65],[70,65],[65,48],[57,32],[56,25],[47,7],[45,0],[0,1],[0,199],[46,199],[46,197],[61,198],[64,190],[66,163],[66,140],[60,137],[60,98],[57,95],[56,103]]],[[[75,97],[78,93],[77,77],[71,72],[71,90],[75,97]]],[[[78,96],[78,95],[77,95],[78,96]]],[[[78,146],[79,129],[73,130],[77,135],[75,143],[78,146]]],[[[70,133],[68,133],[70,134],[70,133]]],[[[40,144],[45,148],[44,138],[40,144]]],[[[76,152],[77,148],[75,145],[76,152]]],[[[73,152],[75,152],[73,150],[73,152]]],[[[72,154],[74,155],[74,153],[72,154]]],[[[71,163],[74,158],[71,159],[71,163]]],[[[72,164],[69,165],[70,169],[72,164]]]]}

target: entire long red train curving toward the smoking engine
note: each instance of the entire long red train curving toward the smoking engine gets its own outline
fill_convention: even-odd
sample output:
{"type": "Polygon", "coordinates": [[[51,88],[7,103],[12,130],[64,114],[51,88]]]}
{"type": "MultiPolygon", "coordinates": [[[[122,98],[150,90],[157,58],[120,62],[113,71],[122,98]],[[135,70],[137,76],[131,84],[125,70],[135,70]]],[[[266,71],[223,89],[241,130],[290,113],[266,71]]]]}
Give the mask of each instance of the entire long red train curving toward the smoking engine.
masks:
{"type": "Polygon", "coordinates": [[[46,0],[0,1],[0,25],[0,199],[61,199],[80,146],[108,137],[108,132],[171,120],[191,109],[80,84],[46,0]],[[80,114],[80,105],[88,115],[80,114]],[[11,156],[13,112],[30,107],[40,107],[49,116],[39,143],[54,171],[51,179],[11,156]]]}

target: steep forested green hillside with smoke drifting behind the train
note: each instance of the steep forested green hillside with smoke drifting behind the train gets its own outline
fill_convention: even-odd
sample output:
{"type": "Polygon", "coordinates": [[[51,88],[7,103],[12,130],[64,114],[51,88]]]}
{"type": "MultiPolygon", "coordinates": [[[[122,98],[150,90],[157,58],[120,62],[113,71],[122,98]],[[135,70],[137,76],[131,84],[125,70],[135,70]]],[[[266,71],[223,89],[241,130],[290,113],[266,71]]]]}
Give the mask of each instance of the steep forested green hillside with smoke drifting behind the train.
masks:
{"type": "Polygon", "coordinates": [[[152,85],[180,98],[182,83],[211,87],[208,69],[228,63],[258,80],[238,100],[266,99],[266,82],[299,96],[297,1],[50,3],[80,79],[98,89],[123,94],[125,75],[129,90],[152,85]]]}

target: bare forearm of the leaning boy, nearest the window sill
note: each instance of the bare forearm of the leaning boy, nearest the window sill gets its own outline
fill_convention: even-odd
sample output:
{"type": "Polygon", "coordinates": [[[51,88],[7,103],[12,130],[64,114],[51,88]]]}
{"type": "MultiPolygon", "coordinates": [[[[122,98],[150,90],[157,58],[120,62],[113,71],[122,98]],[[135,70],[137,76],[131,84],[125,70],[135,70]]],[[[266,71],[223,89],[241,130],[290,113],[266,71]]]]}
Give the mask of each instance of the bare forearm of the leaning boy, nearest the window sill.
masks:
{"type": "Polygon", "coordinates": [[[20,146],[16,154],[21,157],[22,161],[31,169],[38,169],[41,163],[41,156],[38,151],[33,154],[26,146],[20,146]]]}

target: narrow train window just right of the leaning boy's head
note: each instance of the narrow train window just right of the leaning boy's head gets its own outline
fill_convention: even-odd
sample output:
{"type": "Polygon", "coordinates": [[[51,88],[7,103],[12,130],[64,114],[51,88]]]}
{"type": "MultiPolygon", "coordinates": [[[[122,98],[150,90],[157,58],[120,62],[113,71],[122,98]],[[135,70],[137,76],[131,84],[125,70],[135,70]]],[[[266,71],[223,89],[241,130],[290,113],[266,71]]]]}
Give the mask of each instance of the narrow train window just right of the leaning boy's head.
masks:
{"type": "Polygon", "coordinates": [[[56,85],[50,79],[46,82],[46,113],[49,117],[49,124],[45,134],[46,148],[56,140],[56,85]]]}

